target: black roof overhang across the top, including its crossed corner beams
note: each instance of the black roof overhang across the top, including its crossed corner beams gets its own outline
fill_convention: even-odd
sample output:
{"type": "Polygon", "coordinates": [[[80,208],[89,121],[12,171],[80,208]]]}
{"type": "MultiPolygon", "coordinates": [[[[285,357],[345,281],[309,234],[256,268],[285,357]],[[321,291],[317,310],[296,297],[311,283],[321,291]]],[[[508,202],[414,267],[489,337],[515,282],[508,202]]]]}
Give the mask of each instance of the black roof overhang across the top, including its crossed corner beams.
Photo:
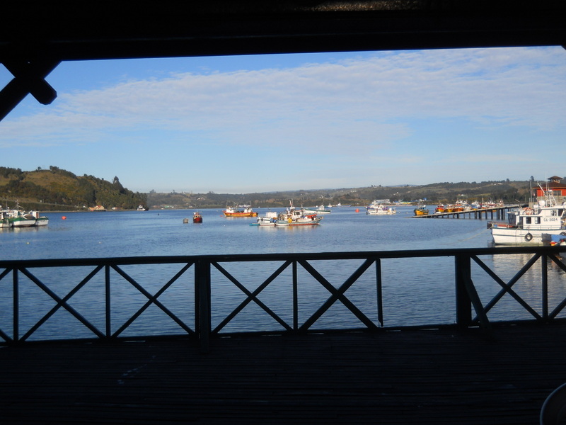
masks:
{"type": "Polygon", "coordinates": [[[0,6],[0,119],[64,60],[566,45],[565,0],[43,1],[0,6]]]}

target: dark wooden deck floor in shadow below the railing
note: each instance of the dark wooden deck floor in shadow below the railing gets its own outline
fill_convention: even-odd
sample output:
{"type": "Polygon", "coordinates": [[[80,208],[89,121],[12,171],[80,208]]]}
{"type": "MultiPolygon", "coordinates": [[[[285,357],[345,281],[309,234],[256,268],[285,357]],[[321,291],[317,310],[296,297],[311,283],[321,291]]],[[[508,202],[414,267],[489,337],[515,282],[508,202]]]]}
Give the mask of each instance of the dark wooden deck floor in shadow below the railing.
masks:
{"type": "Polygon", "coordinates": [[[2,424],[537,424],[566,326],[0,348],[2,424]]]}

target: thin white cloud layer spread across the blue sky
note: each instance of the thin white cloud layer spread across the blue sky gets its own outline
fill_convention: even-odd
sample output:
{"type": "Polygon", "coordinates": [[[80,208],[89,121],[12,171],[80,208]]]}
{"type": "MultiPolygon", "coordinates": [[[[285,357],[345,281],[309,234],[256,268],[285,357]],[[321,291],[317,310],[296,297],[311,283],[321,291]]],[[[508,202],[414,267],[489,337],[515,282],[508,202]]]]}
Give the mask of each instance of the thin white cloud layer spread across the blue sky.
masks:
{"type": "MultiPolygon", "coordinates": [[[[241,147],[250,160],[304,152],[320,169],[324,162],[333,169],[355,157],[365,174],[379,174],[371,162],[375,168],[387,158],[416,168],[450,157],[452,149],[475,153],[469,145],[435,150],[441,140],[471,137],[461,133],[464,128],[474,137],[485,132],[479,145],[492,142],[494,133],[514,137],[517,129],[537,137],[553,132],[555,140],[566,110],[566,52],[560,47],[352,54],[333,62],[231,72],[202,72],[195,65],[192,72],[120,75],[117,81],[59,93],[41,113],[8,115],[0,123],[0,146],[112,140],[120,149],[167,142],[168,150],[159,154],[180,155],[189,145],[204,144],[241,147]],[[423,122],[437,125],[442,137],[422,130],[423,122]],[[441,153],[435,158],[434,152],[441,153]]],[[[521,155],[515,161],[524,166],[521,155]]],[[[476,160],[482,161],[468,156],[467,162],[476,160]]],[[[506,154],[502,160],[510,162],[506,154]]]]}

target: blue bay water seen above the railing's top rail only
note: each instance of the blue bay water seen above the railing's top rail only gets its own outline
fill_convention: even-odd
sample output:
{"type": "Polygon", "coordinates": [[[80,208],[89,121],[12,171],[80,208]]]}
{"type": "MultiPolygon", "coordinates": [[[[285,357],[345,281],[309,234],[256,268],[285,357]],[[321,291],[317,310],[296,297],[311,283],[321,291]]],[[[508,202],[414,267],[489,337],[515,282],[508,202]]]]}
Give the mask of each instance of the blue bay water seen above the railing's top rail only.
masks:
{"type": "Polygon", "coordinates": [[[50,213],[49,226],[4,229],[0,243],[4,259],[67,259],[485,247],[490,240],[485,220],[412,219],[412,209],[371,216],[334,208],[320,225],[300,228],[250,226],[254,218],[224,217],[220,209],[202,210],[202,225],[183,224],[192,210],[50,213]]]}

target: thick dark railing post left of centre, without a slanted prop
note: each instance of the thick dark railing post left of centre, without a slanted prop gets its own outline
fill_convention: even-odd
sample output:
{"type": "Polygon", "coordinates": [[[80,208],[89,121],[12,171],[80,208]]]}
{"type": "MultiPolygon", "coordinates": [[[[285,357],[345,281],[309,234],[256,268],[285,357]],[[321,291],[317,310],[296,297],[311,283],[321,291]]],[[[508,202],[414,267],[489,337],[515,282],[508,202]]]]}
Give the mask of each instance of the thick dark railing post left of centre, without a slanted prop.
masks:
{"type": "Polygon", "coordinates": [[[210,312],[210,261],[195,262],[195,327],[200,341],[200,351],[208,353],[212,331],[210,312]]]}

